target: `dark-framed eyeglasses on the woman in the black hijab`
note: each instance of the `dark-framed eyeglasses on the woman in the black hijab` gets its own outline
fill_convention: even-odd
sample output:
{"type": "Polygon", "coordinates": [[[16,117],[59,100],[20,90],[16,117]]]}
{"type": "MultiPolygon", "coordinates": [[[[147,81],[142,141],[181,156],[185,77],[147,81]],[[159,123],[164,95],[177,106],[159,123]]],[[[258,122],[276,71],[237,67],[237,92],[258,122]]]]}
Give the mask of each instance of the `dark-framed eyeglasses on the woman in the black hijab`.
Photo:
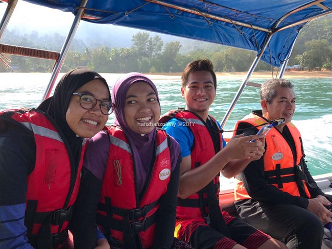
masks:
{"type": "Polygon", "coordinates": [[[109,115],[114,111],[115,104],[105,99],[97,99],[89,94],[79,92],[74,92],[73,95],[80,96],[80,105],[86,110],[90,110],[95,107],[99,101],[101,103],[100,110],[104,115],[109,115]]]}

